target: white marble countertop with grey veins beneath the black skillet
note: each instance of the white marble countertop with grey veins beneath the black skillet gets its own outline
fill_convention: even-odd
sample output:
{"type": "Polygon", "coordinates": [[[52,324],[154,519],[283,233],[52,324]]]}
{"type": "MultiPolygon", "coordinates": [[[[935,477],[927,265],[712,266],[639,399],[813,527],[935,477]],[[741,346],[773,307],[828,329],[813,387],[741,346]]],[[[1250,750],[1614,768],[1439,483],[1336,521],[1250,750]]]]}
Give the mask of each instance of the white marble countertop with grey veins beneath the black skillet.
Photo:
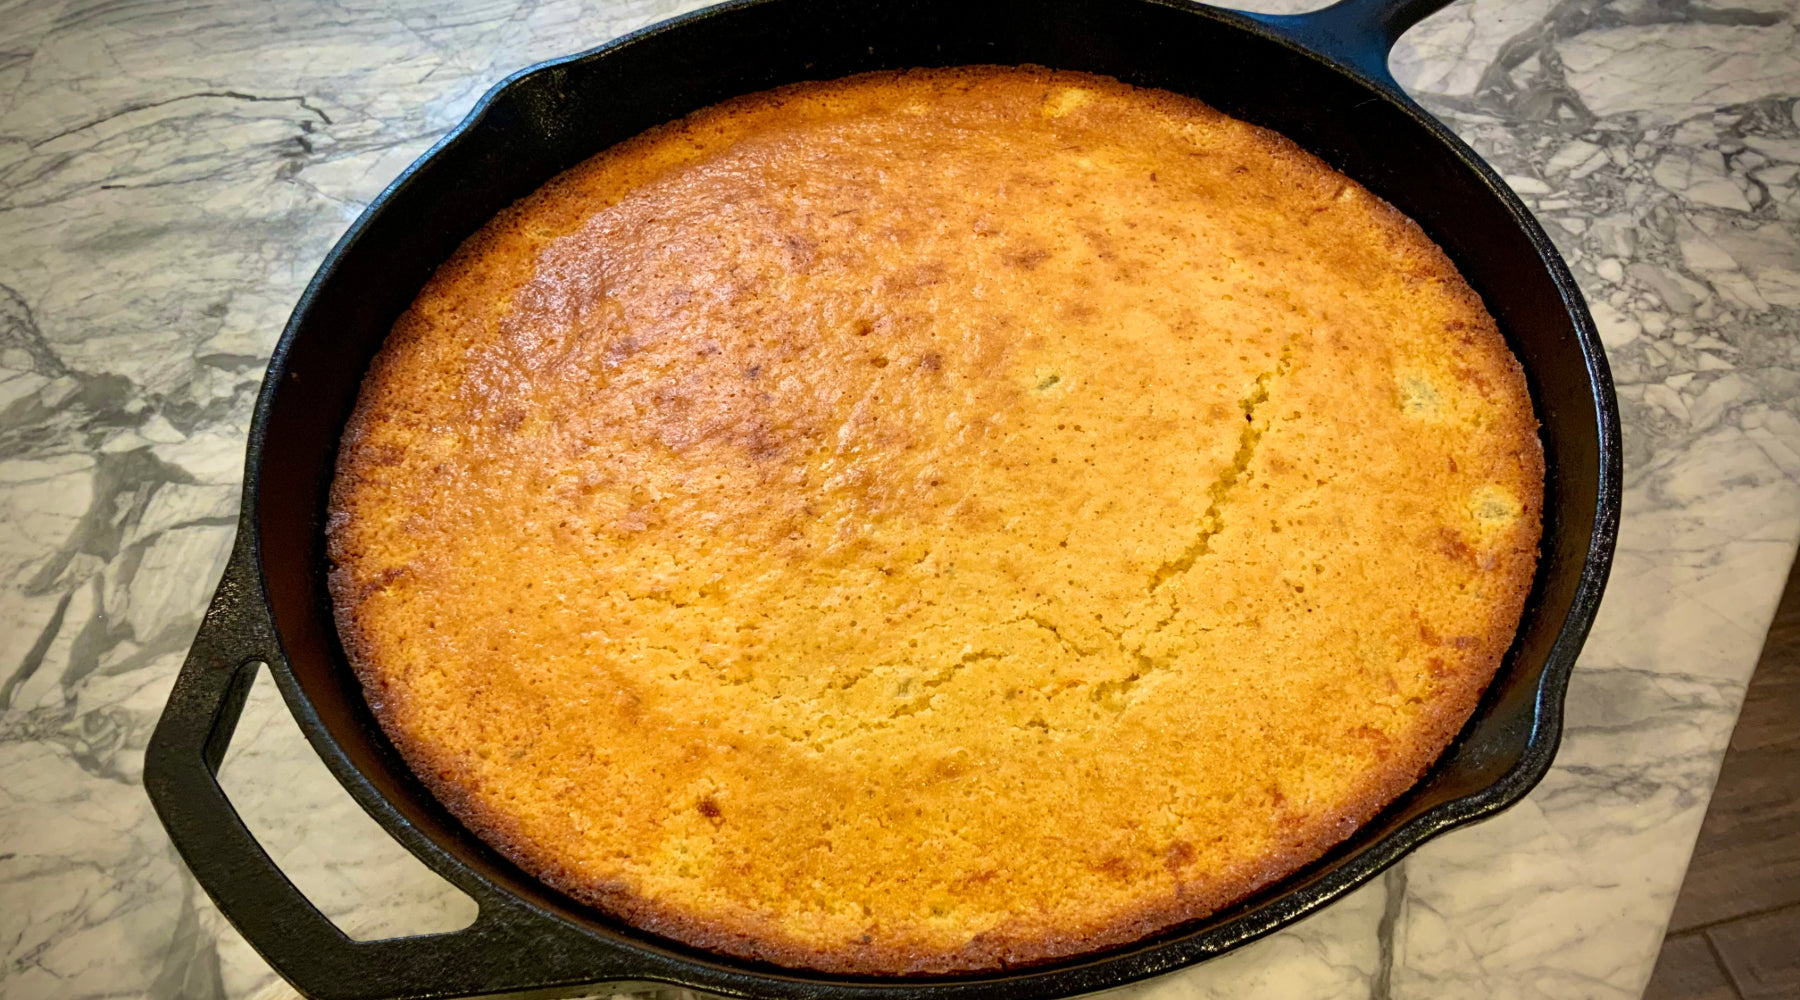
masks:
{"type": "MultiPolygon", "coordinates": [[[[0,0],[5,996],[283,993],[140,788],[275,335],[493,81],[697,5],[0,0]]],[[[1521,806],[1136,996],[1640,995],[1800,540],[1796,32],[1793,0],[1460,0],[1400,43],[1402,85],[1537,210],[1598,320],[1616,568],[1521,806]]],[[[349,933],[472,917],[272,685],[223,782],[349,933]]]]}

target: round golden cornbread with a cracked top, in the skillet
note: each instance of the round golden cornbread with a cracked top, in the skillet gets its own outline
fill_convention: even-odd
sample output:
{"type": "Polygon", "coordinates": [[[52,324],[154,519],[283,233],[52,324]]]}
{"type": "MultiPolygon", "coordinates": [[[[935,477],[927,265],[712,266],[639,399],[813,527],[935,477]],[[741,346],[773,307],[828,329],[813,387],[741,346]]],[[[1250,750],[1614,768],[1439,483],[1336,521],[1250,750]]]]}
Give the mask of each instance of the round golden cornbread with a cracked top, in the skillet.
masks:
{"type": "Polygon", "coordinates": [[[423,781],[646,930],[1028,964],[1341,840],[1510,644],[1543,496],[1444,254],[1291,142],[1031,68],[698,112],[376,358],[331,590],[423,781]]]}

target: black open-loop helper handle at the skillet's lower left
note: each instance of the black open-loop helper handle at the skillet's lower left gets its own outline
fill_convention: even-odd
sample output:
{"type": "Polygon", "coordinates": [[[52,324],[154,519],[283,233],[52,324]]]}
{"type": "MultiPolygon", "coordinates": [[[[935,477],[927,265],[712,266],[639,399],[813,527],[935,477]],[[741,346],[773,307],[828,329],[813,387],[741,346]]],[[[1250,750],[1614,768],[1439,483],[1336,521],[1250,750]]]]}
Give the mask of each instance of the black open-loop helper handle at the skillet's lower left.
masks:
{"type": "MultiPolygon", "coordinates": [[[[481,906],[470,926],[355,941],[275,867],[218,784],[259,662],[283,662],[259,561],[245,534],[239,531],[225,579],[144,752],[144,790],[220,912],[306,996],[470,996],[596,978],[594,955],[607,948],[571,950],[574,932],[502,892],[455,879],[481,906]],[[576,951],[587,955],[580,973],[569,960],[576,951]]],[[[605,978],[632,977],[621,968],[605,978]]]]}

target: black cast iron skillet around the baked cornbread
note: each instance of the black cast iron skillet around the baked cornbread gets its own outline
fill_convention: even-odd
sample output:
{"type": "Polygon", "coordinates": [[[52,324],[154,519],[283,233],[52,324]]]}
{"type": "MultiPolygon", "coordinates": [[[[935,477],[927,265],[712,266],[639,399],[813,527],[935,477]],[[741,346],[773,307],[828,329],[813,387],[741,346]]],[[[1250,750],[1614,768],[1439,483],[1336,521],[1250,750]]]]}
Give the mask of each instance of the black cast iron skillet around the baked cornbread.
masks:
{"type": "Polygon", "coordinates": [[[1517,198],[1388,76],[1445,0],[1255,16],[1184,0],[742,0],[527,68],[400,176],[331,250],[268,365],[238,541],[149,743],[144,784],[220,910],[302,993],[538,996],[677,984],[806,1000],[1055,998],[1190,966],[1350,892],[1426,838],[1519,800],[1550,768],[1562,696],[1618,527],[1618,412],[1600,340],[1517,198]],[[725,97],[801,79],[1037,63],[1192,94],[1269,126],[1417,219],[1487,300],[1543,421],[1544,541],[1517,638],[1474,718],[1375,820],[1238,906],[1098,955],[983,975],[868,978],[697,951],[581,906],[457,824],[383,737],[338,646],[322,518],[338,435],[382,338],[470,232],[558,171],[725,97]],[[257,662],[344,788],[468,892],[464,930],[351,941],[268,860],[216,773],[257,662]]]}

